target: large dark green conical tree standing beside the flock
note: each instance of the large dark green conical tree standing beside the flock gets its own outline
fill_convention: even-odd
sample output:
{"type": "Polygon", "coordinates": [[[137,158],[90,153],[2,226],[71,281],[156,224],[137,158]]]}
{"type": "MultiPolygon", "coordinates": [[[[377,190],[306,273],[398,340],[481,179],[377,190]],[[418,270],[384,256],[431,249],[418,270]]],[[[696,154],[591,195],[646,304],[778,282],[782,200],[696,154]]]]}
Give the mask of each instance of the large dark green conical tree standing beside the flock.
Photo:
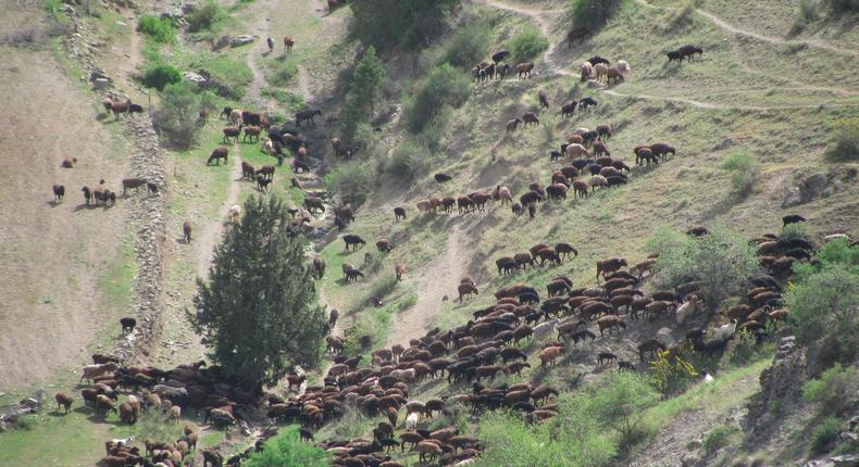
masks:
{"type": "Polygon", "coordinates": [[[291,365],[318,364],[327,331],[304,267],[304,241],[277,197],[250,198],[197,280],[191,316],[225,373],[244,387],[274,384],[291,365]]]}

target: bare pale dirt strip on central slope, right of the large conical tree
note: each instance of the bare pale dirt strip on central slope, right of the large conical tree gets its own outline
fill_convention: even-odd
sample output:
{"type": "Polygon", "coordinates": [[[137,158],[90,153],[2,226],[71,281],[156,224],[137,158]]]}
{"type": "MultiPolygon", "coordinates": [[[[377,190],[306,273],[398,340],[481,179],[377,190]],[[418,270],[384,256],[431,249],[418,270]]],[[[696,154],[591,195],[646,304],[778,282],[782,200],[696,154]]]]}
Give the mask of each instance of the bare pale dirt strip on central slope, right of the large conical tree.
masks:
{"type": "Polygon", "coordinates": [[[451,291],[457,290],[459,280],[465,276],[466,260],[471,254],[462,242],[463,234],[458,225],[451,226],[448,234],[445,252],[406,280],[407,285],[415,286],[418,303],[395,315],[386,348],[397,343],[408,346],[411,339],[424,336],[430,319],[441,310],[441,298],[448,295],[450,300],[456,299],[451,291]]]}

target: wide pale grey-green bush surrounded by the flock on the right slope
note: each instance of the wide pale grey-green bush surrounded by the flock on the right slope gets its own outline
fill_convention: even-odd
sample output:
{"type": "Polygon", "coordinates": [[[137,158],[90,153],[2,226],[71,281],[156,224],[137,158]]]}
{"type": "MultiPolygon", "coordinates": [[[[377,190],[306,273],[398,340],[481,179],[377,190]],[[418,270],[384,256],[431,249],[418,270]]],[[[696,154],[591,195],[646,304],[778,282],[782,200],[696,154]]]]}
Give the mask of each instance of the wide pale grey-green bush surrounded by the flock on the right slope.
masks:
{"type": "Polygon", "coordinates": [[[758,268],[755,248],[744,235],[725,226],[714,226],[708,235],[698,238],[661,227],[646,248],[659,253],[653,269],[660,281],[672,287],[698,281],[711,310],[740,290],[758,268]]]}

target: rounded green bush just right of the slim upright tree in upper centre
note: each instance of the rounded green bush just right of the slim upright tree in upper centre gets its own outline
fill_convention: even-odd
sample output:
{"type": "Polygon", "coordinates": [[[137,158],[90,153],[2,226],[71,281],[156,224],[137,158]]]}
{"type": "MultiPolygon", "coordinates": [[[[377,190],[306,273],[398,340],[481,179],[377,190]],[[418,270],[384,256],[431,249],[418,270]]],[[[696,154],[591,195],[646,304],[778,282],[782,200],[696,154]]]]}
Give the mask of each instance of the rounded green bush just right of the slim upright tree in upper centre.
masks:
{"type": "Polygon", "coordinates": [[[445,63],[434,68],[414,89],[406,102],[406,126],[420,132],[445,104],[459,106],[471,94],[468,75],[445,63]]]}

